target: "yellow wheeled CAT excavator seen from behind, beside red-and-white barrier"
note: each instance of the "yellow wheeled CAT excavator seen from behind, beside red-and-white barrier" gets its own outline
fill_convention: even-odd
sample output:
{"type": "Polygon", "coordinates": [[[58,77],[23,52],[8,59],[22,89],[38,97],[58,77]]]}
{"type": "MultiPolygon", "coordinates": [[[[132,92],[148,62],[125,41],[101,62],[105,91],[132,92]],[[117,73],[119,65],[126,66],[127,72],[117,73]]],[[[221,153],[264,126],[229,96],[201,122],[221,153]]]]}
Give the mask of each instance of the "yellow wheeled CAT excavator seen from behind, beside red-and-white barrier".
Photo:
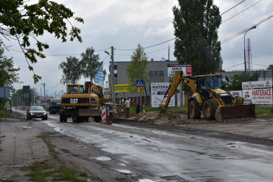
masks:
{"type": "Polygon", "coordinates": [[[61,96],[60,122],[67,122],[67,117],[72,117],[73,122],[88,121],[89,117],[94,117],[99,122],[100,106],[106,107],[106,104],[101,86],[90,81],[86,81],[85,85],[69,84],[67,93],[61,96]]]}

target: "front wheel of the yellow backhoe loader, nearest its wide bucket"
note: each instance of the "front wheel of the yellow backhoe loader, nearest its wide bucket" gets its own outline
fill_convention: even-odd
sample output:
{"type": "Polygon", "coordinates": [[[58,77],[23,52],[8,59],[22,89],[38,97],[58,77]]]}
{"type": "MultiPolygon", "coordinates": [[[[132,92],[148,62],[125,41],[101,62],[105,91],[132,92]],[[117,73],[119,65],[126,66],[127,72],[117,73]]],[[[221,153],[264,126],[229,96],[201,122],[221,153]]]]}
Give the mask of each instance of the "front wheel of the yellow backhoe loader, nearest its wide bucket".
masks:
{"type": "Polygon", "coordinates": [[[218,107],[217,103],[212,99],[208,99],[204,101],[203,115],[206,120],[210,121],[215,119],[215,112],[217,107],[218,107]]]}

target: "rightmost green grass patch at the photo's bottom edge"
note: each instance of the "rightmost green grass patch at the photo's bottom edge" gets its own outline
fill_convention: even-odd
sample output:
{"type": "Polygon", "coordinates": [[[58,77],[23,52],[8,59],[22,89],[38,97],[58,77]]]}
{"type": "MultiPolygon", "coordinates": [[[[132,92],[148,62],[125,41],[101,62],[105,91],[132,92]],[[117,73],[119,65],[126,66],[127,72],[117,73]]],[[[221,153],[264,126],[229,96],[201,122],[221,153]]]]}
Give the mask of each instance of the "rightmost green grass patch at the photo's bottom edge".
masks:
{"type": "MultiPolygon", "coordinates": [[[[75,181],[75,182],[86,182],[86,179],[80,179],[76,176],[77,171],[75,169],[59,168],[59,169],[56,169],[54,172],[57,172],[60,174],[56,174],[53,178],[53,181],[68,180],[68,181],[75,181]]],[[[85,173],[85,176],[87,176],[86,173],[85,173]]]]}

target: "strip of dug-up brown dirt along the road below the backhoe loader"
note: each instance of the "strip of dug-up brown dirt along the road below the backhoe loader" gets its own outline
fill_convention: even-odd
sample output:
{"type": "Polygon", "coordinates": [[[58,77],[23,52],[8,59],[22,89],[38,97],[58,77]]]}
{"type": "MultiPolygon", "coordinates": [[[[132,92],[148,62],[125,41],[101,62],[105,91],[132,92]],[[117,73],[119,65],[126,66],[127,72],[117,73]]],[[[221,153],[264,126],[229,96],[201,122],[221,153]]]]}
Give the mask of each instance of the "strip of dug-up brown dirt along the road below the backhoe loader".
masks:
{"type": "MultiPolygon", "coordinates": [[[[135,126],[149,127],[153,129],[180,132],[194,135],[203,135],[225,140],[250,142],[255,144],[273,144],[273,119],[258,117],[255,120],[218,122],[201,119],[187,119],[186,113],[158,112],[145,113],[145,118],[134,121],[136,115],[130,113],[130,121],[120,115],[116,115],[114,122],[122,122],[135,126]]],[[[267,117],[273,118],[273,113],[267,117]]],[[[139,116],[140,117],[140,116],[139,116]]]]}

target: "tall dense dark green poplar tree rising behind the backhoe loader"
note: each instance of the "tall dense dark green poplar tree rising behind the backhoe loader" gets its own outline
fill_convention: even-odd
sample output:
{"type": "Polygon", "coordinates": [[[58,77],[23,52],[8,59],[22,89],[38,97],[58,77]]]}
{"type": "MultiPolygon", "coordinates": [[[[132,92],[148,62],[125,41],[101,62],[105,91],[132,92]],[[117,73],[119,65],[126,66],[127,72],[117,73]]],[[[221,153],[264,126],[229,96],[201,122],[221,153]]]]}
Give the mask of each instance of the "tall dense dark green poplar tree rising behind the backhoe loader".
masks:
{"type": "Polygon", "coordinates": [[[218,31],[219,8],[213,0],[178,0],[173,7],[174,56],[180,64],[191,64],[193,75],[215,73],[222,60],[218,31]]]}

